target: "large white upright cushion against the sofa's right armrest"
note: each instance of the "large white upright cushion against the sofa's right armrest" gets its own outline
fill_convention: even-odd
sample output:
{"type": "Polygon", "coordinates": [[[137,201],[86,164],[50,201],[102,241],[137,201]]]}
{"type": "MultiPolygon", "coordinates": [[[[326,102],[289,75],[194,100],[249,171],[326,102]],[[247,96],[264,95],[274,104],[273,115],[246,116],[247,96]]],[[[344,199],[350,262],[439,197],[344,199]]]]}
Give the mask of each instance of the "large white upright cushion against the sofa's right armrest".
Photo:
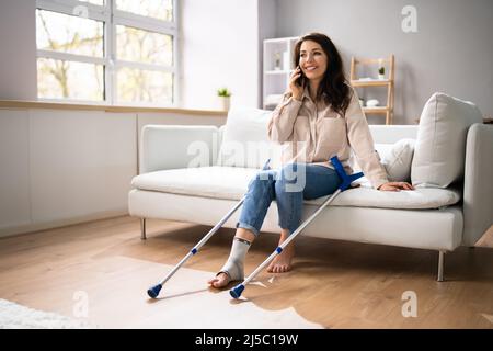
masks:
{"type": "Polygon", "coordinates": [[[481,112],[473,103],[434,93],[420,118],[411,168],[413,185],[447,188],[460,180],[467,132],[481,122],[481,112]]]}

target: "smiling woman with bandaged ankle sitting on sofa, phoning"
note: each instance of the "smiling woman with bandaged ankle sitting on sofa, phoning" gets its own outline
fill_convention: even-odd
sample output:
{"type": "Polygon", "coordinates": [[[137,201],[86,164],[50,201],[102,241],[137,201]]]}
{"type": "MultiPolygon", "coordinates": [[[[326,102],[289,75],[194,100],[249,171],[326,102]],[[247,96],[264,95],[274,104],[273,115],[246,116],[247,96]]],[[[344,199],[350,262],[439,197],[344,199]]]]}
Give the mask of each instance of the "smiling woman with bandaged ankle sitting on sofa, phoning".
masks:
{"type": "MultiPolygon", "coordinates": [[[[282,155],[285,166],[279,171],[263,170],[250,182],[231,253],[219,273],[209,280],[213,287],[244,278],[244,257],[273,200],[278,208],[280,245],[299,226],[303,199],[325,196],[337,189],[341,180],[328,161],[334,155],[351,173],[348,159],[353,149],[375,189],[413,189],[406,182],[388,181],[359,99],[346,82],[341,56],[332,41],[320,33],[305,35],[295,46],[294,61],[297,68],[290,76],[288,91],[274,110],[267,131],[271,140],[287,146],[282,155]]],[[[268,271],[289,271],[294,254],[290,242],[268,271]]]]}

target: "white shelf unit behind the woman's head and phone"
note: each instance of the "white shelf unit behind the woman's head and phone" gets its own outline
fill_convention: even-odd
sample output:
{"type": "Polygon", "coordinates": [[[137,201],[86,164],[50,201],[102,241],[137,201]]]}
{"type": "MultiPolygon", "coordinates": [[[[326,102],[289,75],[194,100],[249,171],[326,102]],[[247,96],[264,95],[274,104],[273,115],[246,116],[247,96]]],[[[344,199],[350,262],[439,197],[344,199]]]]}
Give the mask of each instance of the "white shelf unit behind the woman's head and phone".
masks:
{"type": "Polygon", "coordinates": [[[262,105],[274,110],[289,84],[295,69],[293,53],[299,37],[280,37],[264,41],[262,105]]]}

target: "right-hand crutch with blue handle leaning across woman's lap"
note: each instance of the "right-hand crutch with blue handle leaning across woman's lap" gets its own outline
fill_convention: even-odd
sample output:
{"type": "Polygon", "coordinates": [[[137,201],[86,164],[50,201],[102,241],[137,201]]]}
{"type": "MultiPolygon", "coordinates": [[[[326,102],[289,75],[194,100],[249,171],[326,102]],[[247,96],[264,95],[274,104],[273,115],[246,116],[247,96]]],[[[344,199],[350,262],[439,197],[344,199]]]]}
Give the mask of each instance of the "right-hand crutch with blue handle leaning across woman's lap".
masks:
{"type": "Polygon", "coordinates": [[[252,274],[250,274],[242,283],[238,284],[233,288],[229,291],[229,294],[234,297],[239,298],[241,296],[241,293],[243,292],[245,285],[250,283],[268,263],[271,263],[274,258],[283,252],[284,248],[289,245],[293,240],[295,240],[296,236],[301,233],[301,230],[305,229],[306,226],[308,226],[322,211],[328,206],[341,192],[345,191],[347,188],[351,186],[351,183],[355,181],[358,178],[363,177],[363,173],[355,173],[347,176],[343,166],[341,165],[340,160],[336,156],[331,158],[332,166],[334,166],[335,171],[337,172],[339,177],[342,179],[341,185],[337,188],[337,190],[323,202],[323,204],[320,206],[319,210],[317,210],[316,213],[313,213],[307,220],[305,220],[289,237],[280,245],[278,246],[274,252],[271,253],[271,256],[256,268],[256,270],[253,271],[252,274]]]}

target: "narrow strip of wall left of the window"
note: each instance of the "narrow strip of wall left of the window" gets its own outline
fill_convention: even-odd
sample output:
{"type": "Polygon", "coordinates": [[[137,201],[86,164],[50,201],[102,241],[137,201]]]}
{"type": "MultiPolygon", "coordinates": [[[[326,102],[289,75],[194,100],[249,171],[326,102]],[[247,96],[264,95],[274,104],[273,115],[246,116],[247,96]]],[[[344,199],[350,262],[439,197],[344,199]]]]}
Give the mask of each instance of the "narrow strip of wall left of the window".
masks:
{"type": "Polygon", "coordinates": [[[0,100],[36,100],[36,1],[0,1],[0,100]]]}

